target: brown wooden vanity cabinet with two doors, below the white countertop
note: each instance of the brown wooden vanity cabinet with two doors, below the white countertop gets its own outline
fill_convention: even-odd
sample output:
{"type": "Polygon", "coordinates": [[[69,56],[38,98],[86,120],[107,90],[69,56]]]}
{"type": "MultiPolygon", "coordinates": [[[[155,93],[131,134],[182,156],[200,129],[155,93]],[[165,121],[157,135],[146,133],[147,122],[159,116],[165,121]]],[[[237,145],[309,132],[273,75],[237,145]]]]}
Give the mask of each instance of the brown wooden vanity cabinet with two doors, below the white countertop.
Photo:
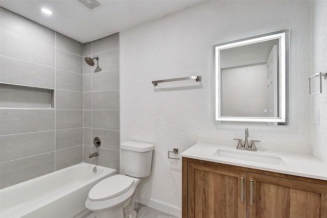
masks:
{"type": "Polygon", "coordinates": [[[327,218],[327,181],[184,157],[182,164],[183,218],[327,218]]]}

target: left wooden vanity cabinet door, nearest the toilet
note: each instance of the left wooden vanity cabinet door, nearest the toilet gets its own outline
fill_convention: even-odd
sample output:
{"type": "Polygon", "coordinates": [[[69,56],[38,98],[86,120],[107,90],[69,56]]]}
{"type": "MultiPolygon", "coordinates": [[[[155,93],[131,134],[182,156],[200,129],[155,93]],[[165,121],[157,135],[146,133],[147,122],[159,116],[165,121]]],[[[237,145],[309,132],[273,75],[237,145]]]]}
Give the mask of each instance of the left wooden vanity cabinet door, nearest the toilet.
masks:
{"type": "Polygon", "coordinates": [[[245,171],[189,162],[188,218],[245,217],[245,176],[245,171]]]}

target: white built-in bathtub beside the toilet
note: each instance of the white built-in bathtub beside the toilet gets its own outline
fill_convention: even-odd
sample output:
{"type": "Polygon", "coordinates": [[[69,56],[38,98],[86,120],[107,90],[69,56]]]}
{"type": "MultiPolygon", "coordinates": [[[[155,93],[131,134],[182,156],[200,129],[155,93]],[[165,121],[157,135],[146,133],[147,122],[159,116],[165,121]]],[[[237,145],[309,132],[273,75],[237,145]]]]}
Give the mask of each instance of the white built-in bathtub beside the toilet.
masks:
{"type": "Polygon", "coordinates": [[[115,169],[79,163],[0,190],[0,217],[72,218],[88,210],[89,190],[115,169]]]}

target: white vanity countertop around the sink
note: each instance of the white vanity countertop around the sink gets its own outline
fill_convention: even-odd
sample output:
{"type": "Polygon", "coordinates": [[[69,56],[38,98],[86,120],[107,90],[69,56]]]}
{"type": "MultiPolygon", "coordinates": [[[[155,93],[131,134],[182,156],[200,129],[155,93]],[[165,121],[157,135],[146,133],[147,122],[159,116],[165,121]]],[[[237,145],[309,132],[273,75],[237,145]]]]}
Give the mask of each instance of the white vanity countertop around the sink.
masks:
{"type": "MultiPolygon", "coordinates": [[[[184,151],[181,156],[198,160],[224,163],[235,166],[262,169],[275,173],[289,174],[294,176],[308,177],[327,181],[327,163],[320,161],[312,155],[298,154],[290,152],[268,151],[257,147],[258,151],[237,150],[236,141],[234,147],[220,146],[218,144],[196,143],[190,149],[184,151]],[[284,161],[284,165],[274,165],[268,163],[239,160],[227,157],[214,156],[218,150],[241,152],[253,155],[278,156],[284,161]]],[[[261,146],[260,146],[261,147],[261,146]]]]}

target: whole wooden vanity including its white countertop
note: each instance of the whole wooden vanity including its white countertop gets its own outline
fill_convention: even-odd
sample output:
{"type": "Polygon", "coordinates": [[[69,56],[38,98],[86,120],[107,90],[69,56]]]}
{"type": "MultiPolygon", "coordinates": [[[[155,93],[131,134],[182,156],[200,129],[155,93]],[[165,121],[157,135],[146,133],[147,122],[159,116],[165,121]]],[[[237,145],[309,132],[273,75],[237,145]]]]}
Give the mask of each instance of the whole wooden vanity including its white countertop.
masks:
{"type": "Polygon", "coordinates": [[[327,163],[310,149],[262,143],[253,152],[233,144],[198,136],[181,154],[182,218],[327,218],[327,163]]]}

